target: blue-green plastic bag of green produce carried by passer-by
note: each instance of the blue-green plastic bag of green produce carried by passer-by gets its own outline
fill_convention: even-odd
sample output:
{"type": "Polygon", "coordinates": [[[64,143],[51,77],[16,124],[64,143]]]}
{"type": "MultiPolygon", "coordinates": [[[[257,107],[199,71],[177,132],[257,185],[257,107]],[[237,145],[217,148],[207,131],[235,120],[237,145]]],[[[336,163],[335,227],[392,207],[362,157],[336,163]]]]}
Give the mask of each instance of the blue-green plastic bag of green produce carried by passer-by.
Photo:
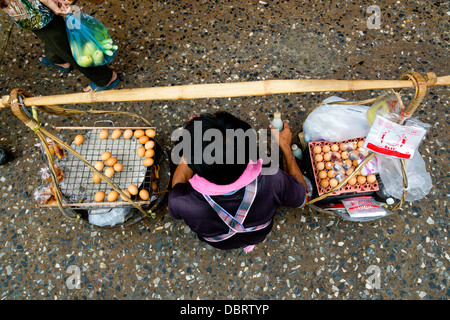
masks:
{"type": "Polygon", "coordinates": [[[70,49],[80,66],[97,67],[114,60],[118,47],[98,19],[74,12],[66,15],[65,21],[70,49]]]}

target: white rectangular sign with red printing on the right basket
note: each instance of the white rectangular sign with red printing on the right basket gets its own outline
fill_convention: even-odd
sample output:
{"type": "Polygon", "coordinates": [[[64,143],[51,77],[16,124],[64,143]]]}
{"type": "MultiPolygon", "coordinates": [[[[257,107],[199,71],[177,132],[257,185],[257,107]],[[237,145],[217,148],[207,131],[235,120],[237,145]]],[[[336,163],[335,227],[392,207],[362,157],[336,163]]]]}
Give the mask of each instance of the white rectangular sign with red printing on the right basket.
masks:
{"type": "Polygon", "coordinates": [[[377,115],[363,148],[394,158],[411,159],[426,132],[424,128],[397,124],[377,115]]]}

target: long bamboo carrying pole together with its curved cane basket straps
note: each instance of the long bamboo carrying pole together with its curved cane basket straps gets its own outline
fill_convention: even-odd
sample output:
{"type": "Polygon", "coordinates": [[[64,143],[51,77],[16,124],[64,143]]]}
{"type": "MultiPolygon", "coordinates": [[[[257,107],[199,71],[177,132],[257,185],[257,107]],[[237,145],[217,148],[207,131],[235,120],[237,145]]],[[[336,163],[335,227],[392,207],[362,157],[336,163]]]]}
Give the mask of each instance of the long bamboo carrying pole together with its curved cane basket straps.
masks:
{"type": "MultiPolygon", "coordinates": [[[[235,83],[214,83],[214,84],[197,84],[197,85],[182,85],[169,87],[153,87],[153,88],[135,88],[110,90],[100,92],[87,93],[73,93],[62,94],[55,96],[33,97],[29,94],[24,94],[22,105],[36,106],[42,108],[43,106],[51,106],[58,104],[75,104],[75,103],[96,103],[96,102],[123,102],[123,101],[150,101],[150,100],[187,100],[187,99],[201,99],[201,98],[227,98],[227,97],[243,97],[243,96],[262,96],[283,93],[300,93],[300,92],[345,92],[358,90],[374,90],[374,89],[402,89],[413,88],[415,95],[411,100],[409,106],[404,111],[404,118],[410,117],[425,97],[427,87],[433,86],[448,86],[450,85],[450,76],[436,77],[434,73],[427,73],[425,75],[416,72],[407,72],[399,80],[264,80],[253,82],[235,82],[235,83]]],[[[12,107],[11,96],[17,95],[17,90],[13,90],[10,96],[3,96],[0,100],[0,108],[12,107]]],[[[50,108],[50,107],[47,107],[50,108]]],[[[57,108],[57,107],[53,107],[57,108]]],[[[53,109],[50,108],[50,109],[53,109]]],[[[54,109],[52,112],[58,114],[64,110],[54,109]]],[[[67,110],[66,110],[67,111],[67,110]]],[[[83,113],[78,110],[71,110],[74,113],[83,113]]],[[[44,131],[40,126],[32,123],[32,119],[28,117],[23,118],[19,112],[16,114],[19,119],[23,120],[26,125],[35,131],[44,131]],[[22,119],[23,118],[23,119],[22,119]]],[[[40,134],[40,132],[37,132],[40,134]]],[[[48,133],[47,133],[48,135],[48,133]]],[[[62,141],[60,141],[63,143],[62,141]]],[[[70,149],[64,144],[64,147],[70,149]]],[[[371,154],[373,156],[373,154],[371,154]]],[[[371,156],[367,157],[365,161],[370,160],[371,156]]],[[[359,169],[361,166],[358,166],[359,169]]],[[[402,162],[404,169],[404,161],[402,162]]],[[[92,168],[95,170],[95,168],[92,168]]],[[[103,177],[102,177],[103,178],[103,177]]],[[[52,175],[53,183],[57,185],[54,176],[52,175]]],[[[108,179],[105,179],[108,182],[108,179]]],[[[344,180],[342,183],[346,183],[344,180]]],[[[341,183],[341,184],[342,184],[341,183]]],[[[336,188],[341,187],[341,184],[336,188]]],[[[406,189],[407,180],[406,174],[403,172],[403,184],[406,189]]],[[[114,187],[114,186],[113,186],[114,187]]],[[[335,189],[336,189],[335,188],[335,189]]],[[[330,191],[332,192],[332,191],[330,191]]],[[[330,192],[309,201],[308,204],[314,207],[313,203],[326,197],[330,192]]],[[[119,193],[121,194],[120,190],[119,193]]],[[[398,208],[404,201],[405,192],[401,202],[395,206],[398,208]]],[[[132,202],[130,199],[125,200],[132,202]]],[[[58,197],[58,204],[62,210],[62,203],[58,197]]],[[[134,204],[138,209],[142,210],[134,204]]],[[[322,210],[326,212],[326,210],[322,210]]]]}

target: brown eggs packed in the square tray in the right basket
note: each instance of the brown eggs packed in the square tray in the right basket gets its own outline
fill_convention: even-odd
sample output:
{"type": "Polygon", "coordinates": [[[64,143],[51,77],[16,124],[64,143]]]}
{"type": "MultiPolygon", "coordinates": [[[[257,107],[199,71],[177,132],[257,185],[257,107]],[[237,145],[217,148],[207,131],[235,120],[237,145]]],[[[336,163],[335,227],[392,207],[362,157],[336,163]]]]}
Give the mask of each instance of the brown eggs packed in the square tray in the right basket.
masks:
{"type": "MultiPolygon", "coordinates": [[[[368,151],[362,148],[364,139],[341,143],[325,141],[310,144],[312,165],[318,187],[323,189],[334,188],[342,180],[353,173],[361,161],[368,156],[368,151]]],[[[349,186],[363,186],[374,184],[375,174],[364,175],[364,168],[352,177],[349,186]]]]}

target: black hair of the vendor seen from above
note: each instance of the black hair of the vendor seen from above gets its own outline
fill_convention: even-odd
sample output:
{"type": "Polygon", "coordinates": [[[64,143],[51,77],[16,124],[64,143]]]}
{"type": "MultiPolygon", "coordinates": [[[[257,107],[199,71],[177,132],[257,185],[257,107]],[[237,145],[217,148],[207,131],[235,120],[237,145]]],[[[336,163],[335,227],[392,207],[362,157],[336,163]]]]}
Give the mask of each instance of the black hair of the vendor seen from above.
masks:
{"type": "MultiPolygon", "coordinates": [[[[250,160],[249,144],[255,143],[256,147],[256,140],[252,141],[252,139],[249,139],[243,134],[233,136],[233,139],[227,139],[227,129],[242,129],[244,132],[246,132],[247,130],[251,129],[251,126],[248,123],[240,120],[239,118],[233,116],[228,112],[219,111],[214,114],[200,114],[199,116],[191,119],[186,124],[185,129],[189,132],[190,135],[190,137],[188,138],[190,138],[191,152],[190,155],[184,154],[184,157],[188,162],[189,168],[191,168],[191,170],[195,174],[198,174],[206,180],[219,185],[233,183],[242,175],[250,160]],[[201,122],[201,137],[194,136],[194,127],[196,122],[201,122]],[[203,139],[202,137],[204,137],[205,132],[209,129],[219,130],[223,137],[222,141],[214,141],[214,138],[211,139],[212,141],[204,141],[205,139],[203,139]],[[201,140],[196,141],[196,138],[197,140],[201,140]],[[201,143],[202,155],[205,151],[205,148],[210,146],[208,152],[211,152],[212,157],[220,157],[220,153],[215,154],[215,149],[212,148],[212,143],[215,143],[215,145],[221,144],[221,147],[223,148],[223,154],[221,157],[222,161],[214,161],[212,164],[210,164],[206,163],[204,157],[202,156],[201,162],[196,163],[196,161],[194,161],[194,151],[195,145],[197,145],[197,149],[200,149],[198,148],[199,143],[201,143]],[[242,144],[240,143],[245,143],[245,147],[242,148],[242,144]],[[227,156],[229,158],[227,158],[227,156]],[[234,157],[233,161],[229,161],[231,156],[234,157]],[[187,157],[190,157],[190,159],[188,159],[187,157]],[[242,159],[244,160],[242,161],[242,159]]],[[[252,160],[255,161],[257,159],[252,160]]]]}

